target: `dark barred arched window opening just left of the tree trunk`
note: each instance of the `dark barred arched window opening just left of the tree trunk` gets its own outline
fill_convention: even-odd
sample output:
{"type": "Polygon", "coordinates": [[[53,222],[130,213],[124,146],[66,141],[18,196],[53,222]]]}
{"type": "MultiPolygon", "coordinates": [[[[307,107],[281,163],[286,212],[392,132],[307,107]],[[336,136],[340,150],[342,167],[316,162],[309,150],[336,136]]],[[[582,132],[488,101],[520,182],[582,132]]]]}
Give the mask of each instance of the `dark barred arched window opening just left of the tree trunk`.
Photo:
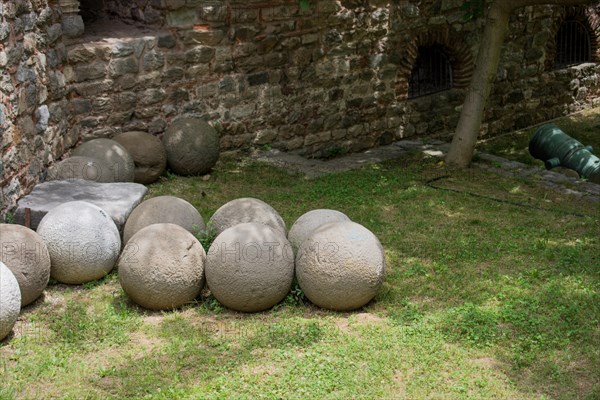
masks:
{"type": "Polygon", "coordinates": [[[439,45],[419,47],[408,84],[408,97],[415,98],[452,88],[452,65],[439,45]]]}

